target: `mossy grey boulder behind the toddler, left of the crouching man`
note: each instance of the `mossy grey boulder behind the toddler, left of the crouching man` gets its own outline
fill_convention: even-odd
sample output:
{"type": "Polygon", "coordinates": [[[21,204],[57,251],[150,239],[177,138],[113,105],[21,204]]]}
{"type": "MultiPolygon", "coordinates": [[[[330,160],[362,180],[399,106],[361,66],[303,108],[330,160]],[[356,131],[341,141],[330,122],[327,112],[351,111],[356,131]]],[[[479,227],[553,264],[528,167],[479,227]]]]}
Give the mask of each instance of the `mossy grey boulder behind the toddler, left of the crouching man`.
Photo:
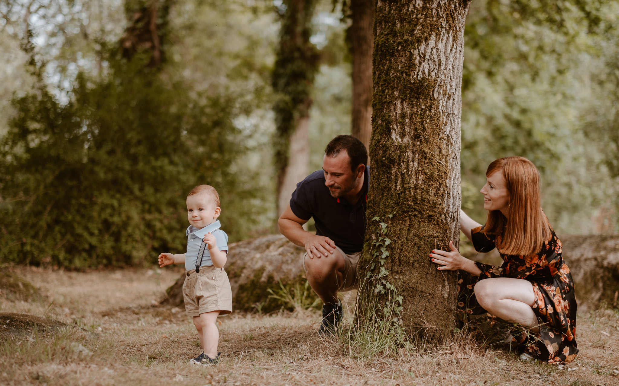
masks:
{"type": "MultiPolygon", "coordinates": [[[[282,235],[269,235],[229,245],[225,270],[232,287],[232,303],[235,311],[271,312],[282,304],[270,297],[269,289],[277,291],[305,283],[302,259],[305,250],[294,245],[282,235]]],[[[167,290],[162,304],[182,306],[183,283],[186,275],[176,280],[167,290]]],[[[315,296],[312,293],[313,296],[315,296]]]]}

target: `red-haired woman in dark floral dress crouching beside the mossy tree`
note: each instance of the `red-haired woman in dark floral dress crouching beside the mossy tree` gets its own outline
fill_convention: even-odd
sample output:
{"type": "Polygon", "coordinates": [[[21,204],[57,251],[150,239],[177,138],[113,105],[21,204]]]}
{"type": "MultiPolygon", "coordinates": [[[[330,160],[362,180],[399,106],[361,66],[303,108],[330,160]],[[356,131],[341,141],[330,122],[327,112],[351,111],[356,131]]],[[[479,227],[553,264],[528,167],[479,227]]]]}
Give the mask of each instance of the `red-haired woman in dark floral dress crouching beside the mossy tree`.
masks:
{"type": "Polygon", "coordinates": [[[511,338],[524,348],[521,358],[569,363],[578,353],[574,283],[561,241],[540,205],[539,172],[524,157],[505,157],[488,166],[486,178],[481,190],[486,224],[461,211],[460,229],[476,251],[497,248],[503,265],[473,262],[451,242],[449,252],[433,250],[431,261],[441,271],[470,274],[459,275],[459,311],[488,313],[492,322],[498,317],[521,326],[512,328],[511,338]],[[472,289],[475,296],[466,304],[472,289]]]}

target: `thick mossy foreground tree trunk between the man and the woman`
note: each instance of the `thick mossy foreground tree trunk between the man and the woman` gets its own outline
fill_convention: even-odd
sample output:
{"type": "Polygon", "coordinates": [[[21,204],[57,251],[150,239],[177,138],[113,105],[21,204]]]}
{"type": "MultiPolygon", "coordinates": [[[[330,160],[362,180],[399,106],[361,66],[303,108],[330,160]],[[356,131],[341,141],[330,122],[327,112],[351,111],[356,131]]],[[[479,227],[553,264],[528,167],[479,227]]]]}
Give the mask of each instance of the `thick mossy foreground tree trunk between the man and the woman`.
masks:
{"type": "MultiPolygon", "coordinates": [[[[387,281],[404,297],[402,324],[442,343],[452,331],[456,272],[428,254],[458,246],[460,117],[468,1],[382,1],[374,15],[372,178],[366,242],[392,243],[387,281]],[[388,217],[390,214],[392,218],[388,217]]],[[[382,256],[382,255],[381,255],[382,256]]],[[[361,269],[378,259],[373,248],[361,269]]],[[[376,270],[378,268],[374,268],[376,270]]],[[[367,287],[366,287],[367,288],[367,287]]]]}

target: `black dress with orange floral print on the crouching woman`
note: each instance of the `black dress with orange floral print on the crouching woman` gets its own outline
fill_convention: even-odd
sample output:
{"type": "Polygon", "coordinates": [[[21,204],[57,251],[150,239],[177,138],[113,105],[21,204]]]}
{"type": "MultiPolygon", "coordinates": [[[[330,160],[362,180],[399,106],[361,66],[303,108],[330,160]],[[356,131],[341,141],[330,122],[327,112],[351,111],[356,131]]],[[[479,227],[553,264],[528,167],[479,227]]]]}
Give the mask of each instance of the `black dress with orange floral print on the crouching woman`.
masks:
{"type": "MultiPolygon", "coordinates": [[[[501,243],[501,236],[480,232],[483,227],[472,229],[472,241],[478,252],[490,252],[501,243]]],[[[512,277],[529,280],[533,285],[535,303],[532,306],[540,323],[540,332],[527,332],[522,326],[511,324],[511,345],[548,363],[566,364],[578,354],[576,348],[576,297],[574,282],[569,268],[561,256],[561,241],[552,231],[552,238],[542,250],[528,256],[506,255],[501,253],[503,265],[491,266],[475,262],[482,271],[479,277],[459,271],[458,311],[462,321],[476,321],[477,325],[499,329],[506,325],[495,316],[487,313],[475,300],[475,283],[492,277],[512,277]]]]}

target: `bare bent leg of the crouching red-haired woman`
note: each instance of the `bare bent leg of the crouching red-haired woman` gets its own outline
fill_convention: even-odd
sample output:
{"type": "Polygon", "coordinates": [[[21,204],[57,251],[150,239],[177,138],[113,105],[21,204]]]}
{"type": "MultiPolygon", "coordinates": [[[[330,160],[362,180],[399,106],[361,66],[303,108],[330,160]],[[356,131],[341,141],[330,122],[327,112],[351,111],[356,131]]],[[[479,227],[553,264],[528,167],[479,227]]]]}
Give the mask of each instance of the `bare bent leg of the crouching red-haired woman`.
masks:
{"type": "Polygon", "coordinates": [[[475,284],[474,292],[477,303],[489,313],[539,332],[539,322],[531,308],[535,293],[529,281],[509,277],[483,279],[475,284]]]}

